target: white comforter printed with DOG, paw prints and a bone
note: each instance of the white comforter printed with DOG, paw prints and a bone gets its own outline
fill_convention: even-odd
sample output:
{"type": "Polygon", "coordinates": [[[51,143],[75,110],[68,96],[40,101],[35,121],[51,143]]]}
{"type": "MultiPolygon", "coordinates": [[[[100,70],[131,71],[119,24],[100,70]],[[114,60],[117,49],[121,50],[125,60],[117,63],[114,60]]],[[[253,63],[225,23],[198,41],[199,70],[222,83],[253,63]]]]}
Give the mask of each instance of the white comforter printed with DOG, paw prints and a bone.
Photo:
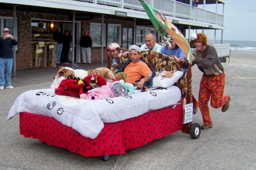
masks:
{"type": "Polygon", "coordinates": [[[181,98],[176,86],[167,89],[135,90],[131,96],[100,100],[58,96],[53,89],[29,90],[22,93],[12,105],[7,120],[20,112],[52,117],[78,131],[81,135],[96,138],[104,127],[103,122],[117,122],[177,104],[181,98]]]}

